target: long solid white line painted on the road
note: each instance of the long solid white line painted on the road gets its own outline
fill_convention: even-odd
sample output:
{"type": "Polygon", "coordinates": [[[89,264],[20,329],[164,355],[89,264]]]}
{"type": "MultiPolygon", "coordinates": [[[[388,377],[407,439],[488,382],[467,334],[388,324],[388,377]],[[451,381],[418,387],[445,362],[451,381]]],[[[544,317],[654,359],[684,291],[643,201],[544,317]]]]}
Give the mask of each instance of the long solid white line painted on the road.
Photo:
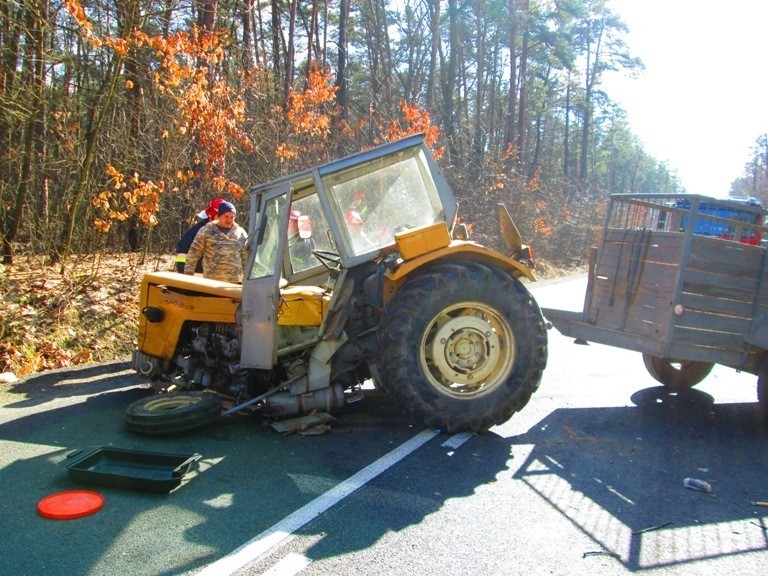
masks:
{"type": "Polygon", "coordinates": [[[412,452],[421,448],[421,446],[432,440],[432,438],[438,434],[440,434],[440,430],[424,430],[420,434],[417,434],[404,444],[401,444],[388,454],[385,454],[372,464],[369,464],[360,470],[360,472],[353,474],[344,480],[344,482],[337,484],[325,494],[322,494],[312,500],[312,502],[305,504],[290,516],[286,516],[271,528],[267,528],[255,538],[240,546],[237,550],[230,552],[213,564],[209,564],[202,571],[198,572],[198,575],[226,576],[270,552],[272,548],[283,544],[284,540],[289,539],[296,530],[317,518],[320,514],[352,494],[358,488],[376,478],[381,473],[385,472],[388,468],[397,464],[412,452]]]}

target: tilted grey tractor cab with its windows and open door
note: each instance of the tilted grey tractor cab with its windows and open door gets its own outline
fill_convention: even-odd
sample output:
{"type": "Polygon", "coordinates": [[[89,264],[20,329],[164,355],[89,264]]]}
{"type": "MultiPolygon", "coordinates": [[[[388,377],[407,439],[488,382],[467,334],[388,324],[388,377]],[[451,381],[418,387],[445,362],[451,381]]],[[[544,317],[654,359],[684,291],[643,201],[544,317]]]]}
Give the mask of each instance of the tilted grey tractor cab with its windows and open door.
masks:
{"type": "Polygon", "coordinates": [[[352,284],[362,281],[354,271],[375,270],[408,231],[437,224],[449,238],[456,211],[421,136],[256,187],[242,365],[269,368],[321,339],[341,345],[333,341],[341,338],[352,284]]]}

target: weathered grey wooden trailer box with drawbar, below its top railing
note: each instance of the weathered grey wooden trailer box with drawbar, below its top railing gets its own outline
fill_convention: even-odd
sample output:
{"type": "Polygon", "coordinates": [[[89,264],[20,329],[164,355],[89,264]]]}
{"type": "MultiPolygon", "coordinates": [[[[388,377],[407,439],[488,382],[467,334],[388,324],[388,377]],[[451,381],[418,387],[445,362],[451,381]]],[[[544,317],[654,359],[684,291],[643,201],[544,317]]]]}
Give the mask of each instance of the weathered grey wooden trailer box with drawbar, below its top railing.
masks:
{"type": "MultiPolygon", "coordinates": [[[[622,210],[634,217],[651,205],[622,210]]],[[[566,336],[756,374],[768,349],[766,249],[693,229],[606,225],[583,311],[546,308],[545,317],[566,336]]]]}

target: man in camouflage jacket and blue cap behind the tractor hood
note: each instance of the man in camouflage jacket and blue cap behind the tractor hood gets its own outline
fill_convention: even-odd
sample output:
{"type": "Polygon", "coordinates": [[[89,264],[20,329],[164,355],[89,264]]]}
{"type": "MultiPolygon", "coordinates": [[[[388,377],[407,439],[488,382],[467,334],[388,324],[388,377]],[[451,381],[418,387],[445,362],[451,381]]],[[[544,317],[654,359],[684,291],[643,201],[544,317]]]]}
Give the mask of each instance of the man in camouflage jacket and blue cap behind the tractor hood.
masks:
{"type": "Polygon", "coordinates": [[[217,210],[218,219],[203,226],[192,241],[187,253],[184,273],[193,275],[200,259],[203,276],[239,284],[248,259],[246,240],[248,233],[235,222],[237,210],[230,202],[222,202],[217,210]]]}

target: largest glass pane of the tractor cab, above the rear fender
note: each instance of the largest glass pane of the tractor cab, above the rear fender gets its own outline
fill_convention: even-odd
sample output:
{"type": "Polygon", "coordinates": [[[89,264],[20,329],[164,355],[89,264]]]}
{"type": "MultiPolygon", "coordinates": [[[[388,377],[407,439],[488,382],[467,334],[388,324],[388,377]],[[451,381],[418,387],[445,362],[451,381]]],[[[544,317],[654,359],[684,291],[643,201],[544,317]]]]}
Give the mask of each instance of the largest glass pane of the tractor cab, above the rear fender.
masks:
{"type": "Polygon", "coordinates": [[[424,153],[414,146],[323,176],[351,256],[394,245],[394,234],[445,218],[424,153]]]}

